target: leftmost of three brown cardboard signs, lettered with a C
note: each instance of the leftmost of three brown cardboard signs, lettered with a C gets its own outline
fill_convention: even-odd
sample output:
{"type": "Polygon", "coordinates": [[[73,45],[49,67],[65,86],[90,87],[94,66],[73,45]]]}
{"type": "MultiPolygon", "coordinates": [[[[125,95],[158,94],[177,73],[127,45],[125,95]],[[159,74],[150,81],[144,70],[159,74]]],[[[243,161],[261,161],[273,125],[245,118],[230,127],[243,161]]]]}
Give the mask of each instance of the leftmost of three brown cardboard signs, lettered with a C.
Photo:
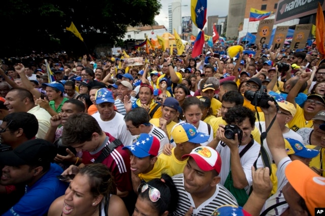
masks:
{"type": "Polygon", "coordinates": [[[255,44],[269,44],[273,29],[274,19],[261,20],[258,24],[255,44]]]}

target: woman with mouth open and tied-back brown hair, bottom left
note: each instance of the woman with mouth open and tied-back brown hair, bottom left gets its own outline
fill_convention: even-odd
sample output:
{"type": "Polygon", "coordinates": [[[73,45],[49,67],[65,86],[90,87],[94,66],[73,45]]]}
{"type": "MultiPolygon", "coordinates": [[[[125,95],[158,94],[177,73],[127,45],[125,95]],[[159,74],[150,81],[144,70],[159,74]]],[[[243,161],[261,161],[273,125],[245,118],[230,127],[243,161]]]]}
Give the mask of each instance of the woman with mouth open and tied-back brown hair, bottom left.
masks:
{"type": "Polygon", "coordinates": [[[124,202],[116,195],[108,167],[87,164],[71,181],[66,193],[51,204],[48,215],[128,215],[124,202]]]}

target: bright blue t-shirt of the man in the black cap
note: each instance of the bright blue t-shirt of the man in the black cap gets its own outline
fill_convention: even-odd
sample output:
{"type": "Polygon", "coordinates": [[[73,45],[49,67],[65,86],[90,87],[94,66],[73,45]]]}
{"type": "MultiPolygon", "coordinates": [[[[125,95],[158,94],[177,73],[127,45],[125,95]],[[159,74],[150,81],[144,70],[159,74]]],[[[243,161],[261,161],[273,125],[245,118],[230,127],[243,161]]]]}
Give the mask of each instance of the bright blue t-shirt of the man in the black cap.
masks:
{"type": "Polygon", "coordinates": [[[4,216],[29,216],[44,215],[48,212],[52,202],[62,196],[68,187],[68,183],[61,182],[56,176],[61,175],[63,169],[51,163],[50,169],[31,187],[25,187],[25,194],[12,206],[4,216]]]}

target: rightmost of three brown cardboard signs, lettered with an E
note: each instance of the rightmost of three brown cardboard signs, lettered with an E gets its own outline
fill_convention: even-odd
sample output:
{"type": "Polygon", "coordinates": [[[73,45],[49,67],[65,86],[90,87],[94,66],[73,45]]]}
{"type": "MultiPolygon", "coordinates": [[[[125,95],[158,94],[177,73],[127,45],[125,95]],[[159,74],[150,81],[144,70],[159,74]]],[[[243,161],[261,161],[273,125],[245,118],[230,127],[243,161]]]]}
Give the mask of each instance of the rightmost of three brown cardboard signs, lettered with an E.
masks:
{"type": "Polygon", "coordinates": [[[312,29],[312,25],[313,24],[296,25],[293,41],[290,45],[291,50],[304,49],[306,47],[306,42],[312,29]]]}

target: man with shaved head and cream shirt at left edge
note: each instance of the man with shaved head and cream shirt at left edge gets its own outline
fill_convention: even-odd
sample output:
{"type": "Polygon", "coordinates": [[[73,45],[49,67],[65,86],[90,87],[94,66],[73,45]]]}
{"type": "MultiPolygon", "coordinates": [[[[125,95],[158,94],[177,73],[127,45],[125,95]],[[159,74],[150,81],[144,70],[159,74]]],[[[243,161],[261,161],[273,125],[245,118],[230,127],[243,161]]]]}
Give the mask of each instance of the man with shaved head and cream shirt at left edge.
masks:
{"type": "Polygon", "coordinates": [[[36,105],[32,94],[25,89],[12,89],[6,96],[4,105],[9,113],[28,112],[36,116],[38,120],[37,138],[44,139],[46,132],[50,127],[51,115],[40,105],[36,105]]]}

